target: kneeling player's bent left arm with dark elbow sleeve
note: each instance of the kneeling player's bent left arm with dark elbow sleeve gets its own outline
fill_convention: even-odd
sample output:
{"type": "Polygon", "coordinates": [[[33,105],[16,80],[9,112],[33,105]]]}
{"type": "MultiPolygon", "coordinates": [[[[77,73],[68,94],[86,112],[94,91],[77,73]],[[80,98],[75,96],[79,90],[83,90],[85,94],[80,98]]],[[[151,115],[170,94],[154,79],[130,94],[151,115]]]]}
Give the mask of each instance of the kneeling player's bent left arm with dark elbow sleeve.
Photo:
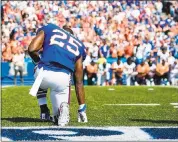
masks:
{"type": "Polygon", "coordinates": [[[40,31],[37,36],[31,41],[28,47],[28,54],[32,58],[33,62],[37,64],[40,61],[38,51],[42,49],[43,41],[44,41],[44,31],[40,31]]]}

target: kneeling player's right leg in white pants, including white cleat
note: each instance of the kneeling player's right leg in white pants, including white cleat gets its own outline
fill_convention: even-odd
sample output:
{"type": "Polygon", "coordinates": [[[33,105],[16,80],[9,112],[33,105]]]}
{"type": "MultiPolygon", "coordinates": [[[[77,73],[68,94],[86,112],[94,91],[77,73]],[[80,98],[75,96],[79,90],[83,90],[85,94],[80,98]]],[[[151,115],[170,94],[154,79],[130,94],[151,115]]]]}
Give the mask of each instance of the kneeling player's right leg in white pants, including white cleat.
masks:
{"type": "Polygon", "coordinates": [[[69,123],[70,103],[70,74],[54,72],[50,76],[50,98],[53,107],[53,116],[57,118],[58,125],[65,126],[69,123]]]}

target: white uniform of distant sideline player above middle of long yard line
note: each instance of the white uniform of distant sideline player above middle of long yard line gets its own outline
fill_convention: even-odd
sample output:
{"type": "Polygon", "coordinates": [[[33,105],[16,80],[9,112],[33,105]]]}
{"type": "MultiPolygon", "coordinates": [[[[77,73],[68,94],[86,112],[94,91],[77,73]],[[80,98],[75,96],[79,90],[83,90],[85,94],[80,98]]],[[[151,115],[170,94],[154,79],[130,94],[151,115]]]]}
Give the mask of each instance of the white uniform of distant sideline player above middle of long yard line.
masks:
{"type": "Polygon", "coordinates": [[[131,78],[137,75],[137,72],[134,71],[135,67],[136,64],[134,62],[130,65],[127,62],[124,63],[124,73],[126,75],[127,86],[131,85],[131,78]]]}

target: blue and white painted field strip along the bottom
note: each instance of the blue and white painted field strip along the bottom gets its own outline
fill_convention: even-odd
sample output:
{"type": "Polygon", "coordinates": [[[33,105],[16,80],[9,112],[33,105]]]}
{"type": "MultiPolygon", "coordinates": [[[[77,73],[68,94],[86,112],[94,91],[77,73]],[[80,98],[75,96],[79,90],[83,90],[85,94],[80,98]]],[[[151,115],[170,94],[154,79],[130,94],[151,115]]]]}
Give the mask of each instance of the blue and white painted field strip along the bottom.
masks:
{"type": "Polygon", "coordinates": [[[178,140],[178,127],[4,127],[3,141],[178,140]]]}

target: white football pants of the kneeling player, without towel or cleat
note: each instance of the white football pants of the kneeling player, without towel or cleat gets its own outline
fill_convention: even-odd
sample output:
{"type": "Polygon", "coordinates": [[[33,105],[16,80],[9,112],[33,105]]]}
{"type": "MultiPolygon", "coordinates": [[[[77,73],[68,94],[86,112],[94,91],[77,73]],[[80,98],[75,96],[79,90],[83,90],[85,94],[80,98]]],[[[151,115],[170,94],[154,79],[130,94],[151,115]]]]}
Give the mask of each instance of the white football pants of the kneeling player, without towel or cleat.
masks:
{"type": "MultiPolygon", "coordinates": [[[[35,72],[35,78],[37,77],[38,72],[39,68],[37,68],[35,72]]],[[[58,109],[62,102],[70,103],[70,79],[71,74],[44,70],[44,77],[40,88],[50,88],[50,98],[54,116],[58,114],[58,109]]]]}

